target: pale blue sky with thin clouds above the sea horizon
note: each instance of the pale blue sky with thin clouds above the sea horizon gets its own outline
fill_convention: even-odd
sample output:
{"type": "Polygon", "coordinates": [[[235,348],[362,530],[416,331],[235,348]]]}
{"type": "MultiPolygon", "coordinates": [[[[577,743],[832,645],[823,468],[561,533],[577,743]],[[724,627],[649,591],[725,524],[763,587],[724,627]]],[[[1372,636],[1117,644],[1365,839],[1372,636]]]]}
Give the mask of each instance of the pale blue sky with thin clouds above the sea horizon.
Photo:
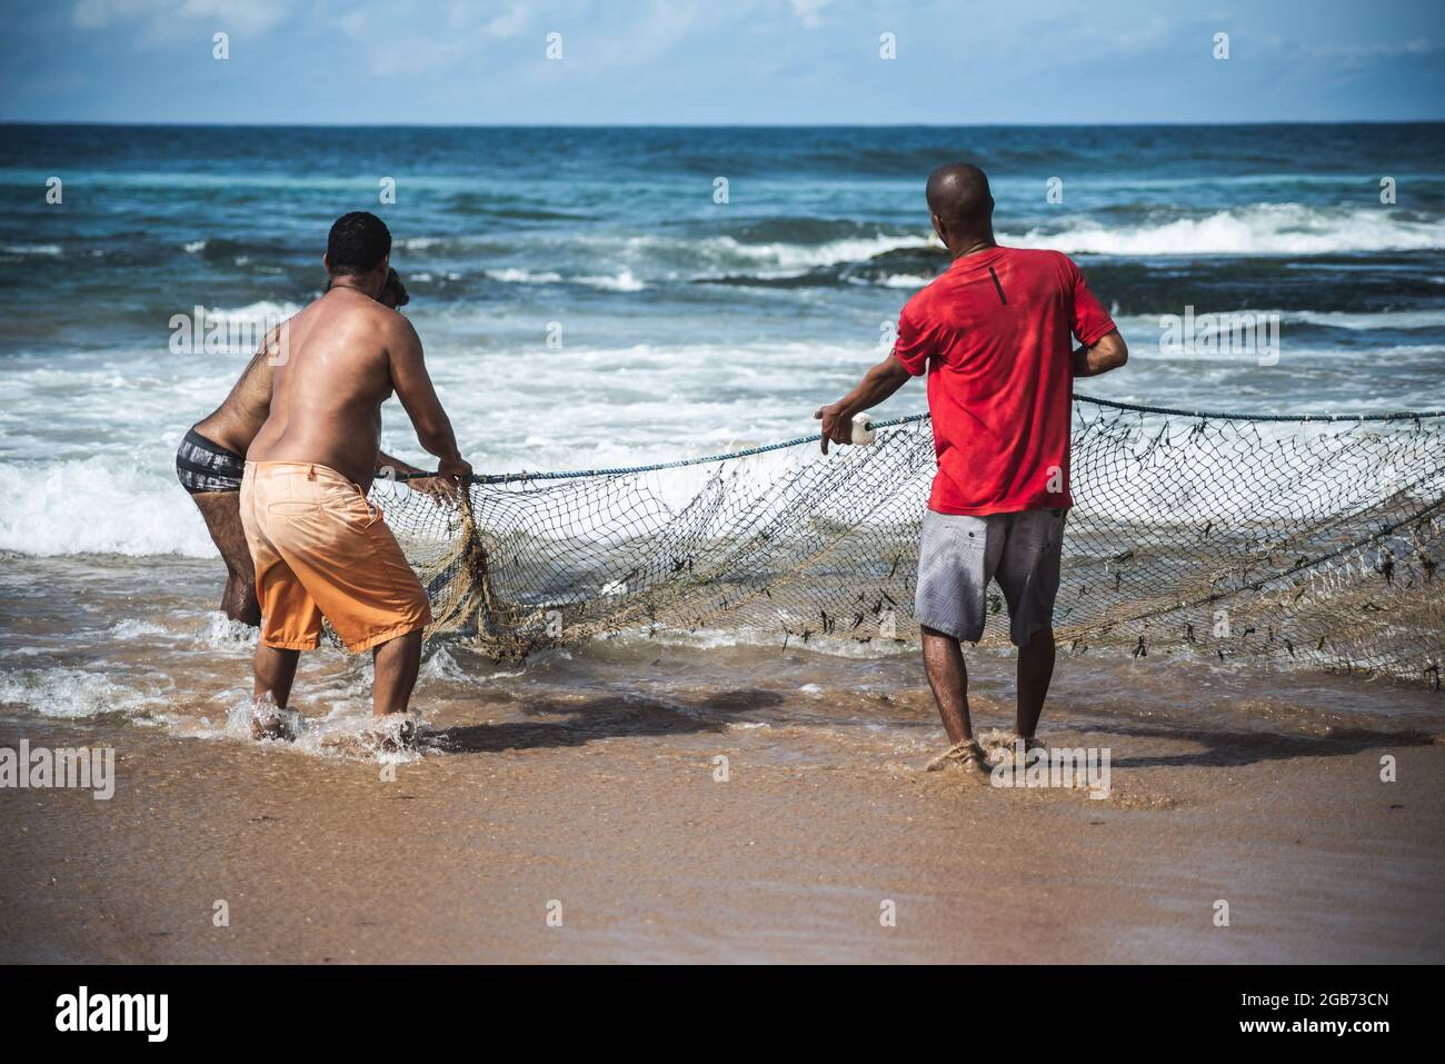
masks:
{"type": "Polygon", "coordinates": [[[0,0],[4,121],[1439,119],[1445,0],[0,0]]]}

